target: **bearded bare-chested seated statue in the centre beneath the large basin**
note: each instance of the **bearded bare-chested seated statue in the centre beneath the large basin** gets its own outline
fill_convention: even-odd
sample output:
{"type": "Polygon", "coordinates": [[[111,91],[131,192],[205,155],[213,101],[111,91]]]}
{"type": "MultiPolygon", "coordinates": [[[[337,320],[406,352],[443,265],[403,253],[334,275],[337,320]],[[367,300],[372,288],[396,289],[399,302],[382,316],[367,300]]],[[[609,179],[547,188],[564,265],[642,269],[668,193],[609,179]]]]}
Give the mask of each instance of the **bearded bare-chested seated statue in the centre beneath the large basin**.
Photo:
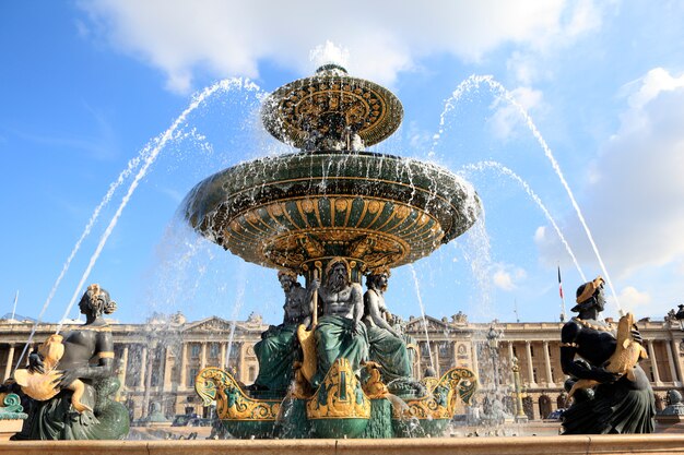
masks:
{"type": "Polygon", "coordinates": [[[352,283],[351,268],[343,258],[333,258],[326,267],[326,284],[311,282],[322,301],[322,318],[318,321],[314,337],[318,371],[312,385],[318,385],[332,363],[344,357],[354,371],[368,359],[368,335],[362,323],[364,315],[363,289],[352,283]]]}

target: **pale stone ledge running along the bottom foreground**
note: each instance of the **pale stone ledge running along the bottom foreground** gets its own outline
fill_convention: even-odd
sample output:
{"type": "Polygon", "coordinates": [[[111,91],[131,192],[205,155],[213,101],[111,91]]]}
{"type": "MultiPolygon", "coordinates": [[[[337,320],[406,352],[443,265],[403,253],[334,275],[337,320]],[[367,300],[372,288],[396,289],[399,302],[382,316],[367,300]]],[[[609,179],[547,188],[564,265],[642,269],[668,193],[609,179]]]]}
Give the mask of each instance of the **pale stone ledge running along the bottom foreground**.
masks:
{"type": "Polygon", "coordinates": [[[434,438],[414,440],[274,441],[30,441],[1,442],[0,454],[21,455],[470,455],[684,454],[684,435],[434,438]]]}

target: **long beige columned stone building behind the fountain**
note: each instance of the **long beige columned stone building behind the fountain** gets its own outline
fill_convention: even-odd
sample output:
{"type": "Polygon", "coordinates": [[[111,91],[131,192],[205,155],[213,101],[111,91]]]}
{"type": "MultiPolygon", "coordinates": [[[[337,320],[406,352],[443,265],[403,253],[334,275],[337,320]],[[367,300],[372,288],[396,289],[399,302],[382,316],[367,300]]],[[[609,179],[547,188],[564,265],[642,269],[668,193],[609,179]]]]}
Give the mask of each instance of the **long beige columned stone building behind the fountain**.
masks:
{"type": "MultiPolygon", "coordinates": [[[[649,355],[641,366],[651,379],[657,405],[662,406],[667,391],[683,391],[684,332],[672,316],[658,322],[642,320],[638,326],[649,355]]],[[[471,368],[477,372],[482,390],[496,387],[511,405],[510,366],[516,357],[528,416],[539,419],[564,406],[561,323],[496,323],[491,331],[492,324],[469,323],[459,313],[451,319],[411,318],[404,327],[416,340],[411,348],[417,378],[431,366],[438,375],[453,366],[471,368]]],[[[0,374],[4,379],[32,328],[28,321],[0,320],[0,374]]],[[[118,399],[133,418],[144,416],[143,409],[154,403],[167,416],[204,414],[193,390],[197,373],[204,367],[221,367],[250,384],[259,370],[253,345],[267,328],[259,315],[235,324],[215,316],[188,322],[181,314],[152,318],[144,324],[113,323],[118,374],[123,383],[118,399]]],[[[56,330],[56,324],[40,324],[35,342],[43,342],[56,330]]]]}

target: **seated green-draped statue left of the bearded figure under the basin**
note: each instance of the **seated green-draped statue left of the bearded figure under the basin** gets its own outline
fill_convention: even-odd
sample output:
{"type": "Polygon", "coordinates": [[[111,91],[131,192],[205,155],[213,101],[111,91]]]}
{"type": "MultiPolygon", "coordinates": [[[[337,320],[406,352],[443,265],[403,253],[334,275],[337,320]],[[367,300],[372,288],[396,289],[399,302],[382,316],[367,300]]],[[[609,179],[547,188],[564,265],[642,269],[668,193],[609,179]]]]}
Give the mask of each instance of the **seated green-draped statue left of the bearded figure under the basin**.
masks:
{"type": "Polygon", "coordinates": [[[293,366],[302,360],[297,327],[299,324],[308,326],[311,323],[312,291],[304,289],[293,272],[281,271],[278,279],[285,291],[283,323],[271,325],[261,334],[261,342],[255,345],[259,375],[249,388],[284,394],[294,378],[293,366]]]}

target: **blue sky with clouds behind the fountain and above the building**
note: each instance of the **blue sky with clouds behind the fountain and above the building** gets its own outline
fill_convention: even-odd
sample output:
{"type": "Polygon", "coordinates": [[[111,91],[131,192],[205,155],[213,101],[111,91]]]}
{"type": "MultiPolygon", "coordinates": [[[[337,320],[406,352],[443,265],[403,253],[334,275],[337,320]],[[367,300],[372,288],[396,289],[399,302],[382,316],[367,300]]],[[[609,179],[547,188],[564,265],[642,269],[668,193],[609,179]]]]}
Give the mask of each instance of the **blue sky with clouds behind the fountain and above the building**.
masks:
{"type": "MultiPolygon", "coordinates": [[[[85,284],[109,289],[120,321],[180,310],[189,319],[256,311],[276,322],[283,298],[274,272],[198,239],[176,211],[209,175],[287,152],[258,123],[260,96],[310,74],[327,41],[341,49],[350,73],[387,85],[404,105],[402,128],[373,149],[464,172],[485,208],[484,227],[413,271],[393,271],[391,310],[418,315],[422,301],[435,316],[557,320],[557,264],[573,306],[581,277],[547,218],[519,181],[483,161],[527,182],[585,275],[602,273],[516,106],[486,83],[449,101],[472,74],[492,75],[529,112],[575,193],[621,306],[661,319],[684,302],[684,5],[414,3],[0,3],[0,313],[11,312],[19,290],[17,312],[36,318],[129,161],[148,144],[154,148],[193,93],[248,77],[250,88],[217,91],[174,130],[85,284]]],[[[59,320],[83,291],[78,285],[133,176],[105,204],[45,320],[59,320]]],[[[611,300],[606,315],[616,314],[611,300]]]]}

